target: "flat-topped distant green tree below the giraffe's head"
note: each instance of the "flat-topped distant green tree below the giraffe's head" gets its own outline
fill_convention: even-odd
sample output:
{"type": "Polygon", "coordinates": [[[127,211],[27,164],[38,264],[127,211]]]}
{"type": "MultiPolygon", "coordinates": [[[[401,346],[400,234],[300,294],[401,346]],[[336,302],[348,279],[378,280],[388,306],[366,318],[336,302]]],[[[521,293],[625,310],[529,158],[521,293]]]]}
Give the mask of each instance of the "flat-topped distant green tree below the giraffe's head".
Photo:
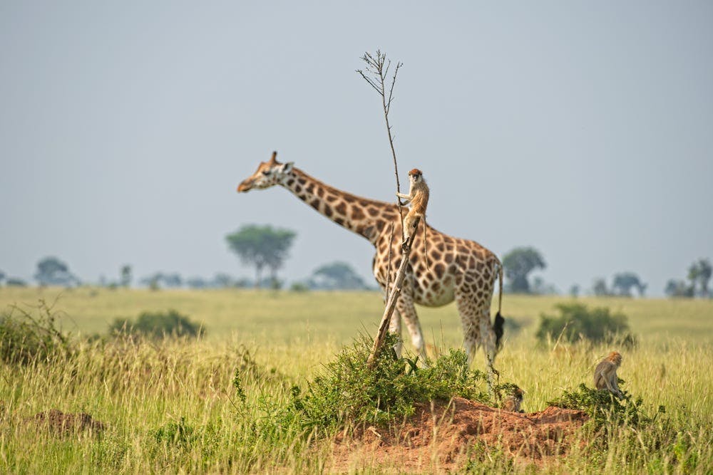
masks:
{"type": "Polygon", "coordinates": [[[240,257],[240,260],[250,266],[255,266],[255,286],[262,281],[262,269],[270,269],[270,278],[276,282],[277,271],[287,259],[287,252],[297,234],[289,229],[273,229],[272,226],[257,226],[248,224],[235,233],[225,236],[230,250],[240,257]]]}

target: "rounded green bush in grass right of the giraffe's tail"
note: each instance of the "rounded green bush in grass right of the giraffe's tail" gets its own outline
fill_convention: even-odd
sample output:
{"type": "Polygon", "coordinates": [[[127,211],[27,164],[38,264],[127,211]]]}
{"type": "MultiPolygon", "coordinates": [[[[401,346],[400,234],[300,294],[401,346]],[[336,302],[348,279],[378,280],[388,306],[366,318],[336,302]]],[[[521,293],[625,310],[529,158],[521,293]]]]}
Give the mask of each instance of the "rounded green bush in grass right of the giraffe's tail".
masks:
{"type": "Polygon", "coordinates": [[[628,333],[627,318],[621,313],[610,313],[608,308],[589,309],[582,303],[559,303],[560,315],[540,315],[540,327],[535,336],[540,342],[561,338],[575,342],[584,338],[591,343],[635,345],[635,337],[628,333]],[[561,335],[561,337],[560,337],[561,335]]]}

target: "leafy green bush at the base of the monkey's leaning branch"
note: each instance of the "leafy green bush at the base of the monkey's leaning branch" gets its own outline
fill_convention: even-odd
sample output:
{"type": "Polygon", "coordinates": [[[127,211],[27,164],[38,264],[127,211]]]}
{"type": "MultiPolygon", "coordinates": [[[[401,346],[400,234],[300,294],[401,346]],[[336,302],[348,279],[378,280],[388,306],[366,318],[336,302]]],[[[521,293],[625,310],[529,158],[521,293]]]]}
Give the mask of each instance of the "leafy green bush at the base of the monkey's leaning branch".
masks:
{"type": "MultiPolygon", "coordinates": [[[[366,367],[371,339],[362,336],[337,359],[325,365],[322,374],[307,385],[294,386],[287,419],[301,419],[307,429],[329,429],[344,424],[388,424],[415,412],[415,404],[451,397],[488,402],[483,387],[486,375],[468,368],[463,350],[451,350],[429,367],[396,357],[395,335],[387,335],[384,350],[373,370],[366,367]]],[[[417,358],[416,358],[417,359],[417,358]]]]}

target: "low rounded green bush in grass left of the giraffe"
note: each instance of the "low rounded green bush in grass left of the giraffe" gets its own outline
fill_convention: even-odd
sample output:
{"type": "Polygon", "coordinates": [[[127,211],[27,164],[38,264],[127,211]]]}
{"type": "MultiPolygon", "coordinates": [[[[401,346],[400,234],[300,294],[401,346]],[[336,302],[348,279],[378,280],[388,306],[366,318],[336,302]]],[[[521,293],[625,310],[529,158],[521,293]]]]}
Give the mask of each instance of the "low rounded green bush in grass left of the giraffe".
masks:
{"type": "Polygon", "coordinates": [[[138,335],[146,338],[200,337],[205,329],[175,310],[143,312],[136,320],[117,318],[110,330],[115,334],[138,335]]]}

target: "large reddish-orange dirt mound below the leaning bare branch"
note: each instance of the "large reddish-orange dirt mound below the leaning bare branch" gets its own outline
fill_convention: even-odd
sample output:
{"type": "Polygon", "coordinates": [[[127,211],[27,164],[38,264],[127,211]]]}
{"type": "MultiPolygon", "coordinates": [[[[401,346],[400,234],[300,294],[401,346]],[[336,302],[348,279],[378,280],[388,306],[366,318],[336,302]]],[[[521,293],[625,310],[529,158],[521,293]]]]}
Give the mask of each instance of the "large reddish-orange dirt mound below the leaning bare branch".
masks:
{"type": "Polygon", "coordinates": [[[366,427],[334,441],[334,471],[379,466],[397,471],[452,471],[468,459],[476,443],[499,446],[508,456],[541,463],[564,454],[568,437],[588,416],[548,407],[523,414],[456,397],[450,404],[418,407],[396,429],[366,427]]]}

